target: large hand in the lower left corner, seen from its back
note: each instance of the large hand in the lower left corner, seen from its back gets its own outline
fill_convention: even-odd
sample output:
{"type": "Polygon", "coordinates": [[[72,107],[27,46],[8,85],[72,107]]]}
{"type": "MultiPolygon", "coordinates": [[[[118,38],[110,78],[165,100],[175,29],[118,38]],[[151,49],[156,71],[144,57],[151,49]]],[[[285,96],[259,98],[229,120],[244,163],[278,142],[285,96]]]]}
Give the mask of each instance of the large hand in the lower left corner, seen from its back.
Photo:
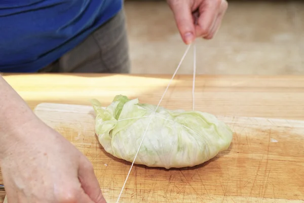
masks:
{"type": "Polygon", "coordinates": [[[0,164],[9,203],[106,203],[90,161],[39,119],[16,126],[0,164]]]}

